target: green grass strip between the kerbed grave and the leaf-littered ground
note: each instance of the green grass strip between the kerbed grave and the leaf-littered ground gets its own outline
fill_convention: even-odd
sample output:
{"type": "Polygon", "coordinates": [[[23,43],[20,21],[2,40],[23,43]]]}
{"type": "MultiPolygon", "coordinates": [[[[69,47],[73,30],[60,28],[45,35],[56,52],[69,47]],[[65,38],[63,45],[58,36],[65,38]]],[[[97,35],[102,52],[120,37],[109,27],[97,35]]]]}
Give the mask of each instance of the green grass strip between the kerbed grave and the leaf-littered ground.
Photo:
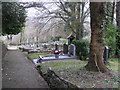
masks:
{"type": "Polygon", "coordinates": [[[58,60],[58,61],[47,61],[41,64],[43,72],[46,72],[48,68],[52,70],[65,70],[70,67],[77,68],[83,67],[87,64],[87,61],[80,61],[80,60],[58,60]]]}

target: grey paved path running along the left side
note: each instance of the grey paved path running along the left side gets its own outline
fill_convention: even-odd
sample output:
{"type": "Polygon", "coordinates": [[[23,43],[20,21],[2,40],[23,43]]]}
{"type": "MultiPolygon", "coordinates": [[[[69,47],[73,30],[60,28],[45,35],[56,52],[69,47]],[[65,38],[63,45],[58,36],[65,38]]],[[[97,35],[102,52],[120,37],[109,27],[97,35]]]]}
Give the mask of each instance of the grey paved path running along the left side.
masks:
{"type": "Polygon", "coordinates": [[[34,64],[19,50],[10,50],[3,59],[3,88],[48,88],[34,64]]]}

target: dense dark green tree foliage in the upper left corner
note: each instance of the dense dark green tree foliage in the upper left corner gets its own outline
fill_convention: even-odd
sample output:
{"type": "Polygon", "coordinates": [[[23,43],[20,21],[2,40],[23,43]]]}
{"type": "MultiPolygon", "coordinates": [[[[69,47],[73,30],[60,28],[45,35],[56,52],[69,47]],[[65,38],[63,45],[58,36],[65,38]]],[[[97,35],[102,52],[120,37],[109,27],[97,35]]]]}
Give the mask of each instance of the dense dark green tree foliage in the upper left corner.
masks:
{"type": "Polygon", "coordinates": [[[25,9],[18,2],[2,2],[2,35],[18,34],[25,26],[25,9]]]}

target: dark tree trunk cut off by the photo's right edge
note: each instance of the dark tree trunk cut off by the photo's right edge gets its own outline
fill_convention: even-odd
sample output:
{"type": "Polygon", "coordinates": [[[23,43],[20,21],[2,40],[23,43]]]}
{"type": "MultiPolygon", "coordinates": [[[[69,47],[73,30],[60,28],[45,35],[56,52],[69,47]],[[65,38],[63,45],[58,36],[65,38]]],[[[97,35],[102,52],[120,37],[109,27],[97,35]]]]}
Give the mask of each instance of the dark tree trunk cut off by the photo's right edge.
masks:
{"type": "Polygon", "coordinates": [[[120,1],[116,5],[116,22],[117,22],[117,35],[116,35],[116,53],[117,57],[120,57],[120,1]]]}

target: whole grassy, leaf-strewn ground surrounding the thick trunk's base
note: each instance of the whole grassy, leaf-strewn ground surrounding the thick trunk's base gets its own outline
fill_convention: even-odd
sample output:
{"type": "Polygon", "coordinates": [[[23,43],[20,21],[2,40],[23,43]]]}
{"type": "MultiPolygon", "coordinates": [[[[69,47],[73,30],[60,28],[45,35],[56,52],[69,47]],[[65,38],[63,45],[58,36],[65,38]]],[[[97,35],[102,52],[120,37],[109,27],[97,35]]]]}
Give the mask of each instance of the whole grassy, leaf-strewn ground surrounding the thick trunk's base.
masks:
{"type": "MultiPolygon", "coordinates": [[[[46,73],[48,68],[51,68],[80,88],[118,88],[120,78],[117,75],[87,71],[83,68],[86,64],[87,61],[80,60],[47,61],[41,64],[41,69],[46,73]]],[[[107,67],[118,72],[118,60],[111,59],[107,67]]]]}

